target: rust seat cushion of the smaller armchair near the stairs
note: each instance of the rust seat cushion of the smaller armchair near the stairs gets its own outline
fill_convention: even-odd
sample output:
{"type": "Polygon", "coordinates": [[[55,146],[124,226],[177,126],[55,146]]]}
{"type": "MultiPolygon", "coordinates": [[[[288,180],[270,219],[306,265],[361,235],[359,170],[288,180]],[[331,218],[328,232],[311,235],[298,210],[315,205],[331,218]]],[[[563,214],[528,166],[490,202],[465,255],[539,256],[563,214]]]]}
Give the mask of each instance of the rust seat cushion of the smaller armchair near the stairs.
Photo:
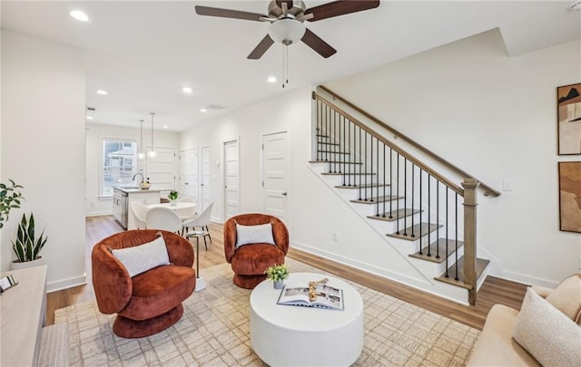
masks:
{"type": "Polygon", "coordinates": [[[275,264],[284,264],[284,253],[277,246],[241,246],[232,256],[231,266],[238,275],[263,275],[264,271],[275,264]]]}

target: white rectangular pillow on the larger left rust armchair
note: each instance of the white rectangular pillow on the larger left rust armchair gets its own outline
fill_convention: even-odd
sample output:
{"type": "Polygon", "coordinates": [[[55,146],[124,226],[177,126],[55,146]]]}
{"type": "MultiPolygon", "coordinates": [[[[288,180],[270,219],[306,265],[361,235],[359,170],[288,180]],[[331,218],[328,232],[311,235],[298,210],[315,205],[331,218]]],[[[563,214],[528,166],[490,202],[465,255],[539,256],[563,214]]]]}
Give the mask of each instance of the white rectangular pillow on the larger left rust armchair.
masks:
{"type": "Polygon", "coordinates": [[[110,249],[110,251],[123,263],[131,277],[153,269],[155,266],[170,264],[165,241],[161,234],[153,241],[143,245],[110,249]]]}

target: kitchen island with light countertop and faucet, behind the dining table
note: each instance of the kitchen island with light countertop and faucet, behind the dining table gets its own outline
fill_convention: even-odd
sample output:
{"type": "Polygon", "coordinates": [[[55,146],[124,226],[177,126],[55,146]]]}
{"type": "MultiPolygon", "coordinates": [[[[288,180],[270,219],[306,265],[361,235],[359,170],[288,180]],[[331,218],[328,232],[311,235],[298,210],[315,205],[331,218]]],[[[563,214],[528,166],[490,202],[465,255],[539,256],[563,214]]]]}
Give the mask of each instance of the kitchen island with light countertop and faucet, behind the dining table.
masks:
{"type": "Polygon", "coordinates": [[[162,191],[169,191],[167,188],[141,189],[135,187],[113,187],[113,216],[125,229],[135,229],[135,217],[131,209],[133,201],[140,201],[144,205],[159,204],[161,202],[162,191]]]}

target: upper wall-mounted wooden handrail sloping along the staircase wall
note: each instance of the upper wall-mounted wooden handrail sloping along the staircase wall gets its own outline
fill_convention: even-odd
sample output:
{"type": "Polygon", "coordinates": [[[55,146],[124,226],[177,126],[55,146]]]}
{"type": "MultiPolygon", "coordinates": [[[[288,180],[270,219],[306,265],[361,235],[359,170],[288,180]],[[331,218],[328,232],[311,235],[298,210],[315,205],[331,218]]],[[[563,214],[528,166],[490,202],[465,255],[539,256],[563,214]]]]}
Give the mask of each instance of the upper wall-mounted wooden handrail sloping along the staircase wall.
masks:
{"type": "MultiPolygon", "coordinates": [[[[462,176],[464,179],[476,179],[474,176],[468,174],[468,172],[466,172],[465,170],[456,167],[454,164],[452,164],[451,162],[449,162],[447,159],[444,159],[444,158],[438,156],[438,154],[434,153],[431,150],[428,150],[428,148],[426,148],[423,145],[419,144],[417,141],[412,140],[411,138],[409,138],[405,134],[402,134],[398,130],[393,129],[392,127],[390,127],[385,122],[380,121],[378,118],[370,115],[368,112],[361,110],[358,106],[354,105],[350,101],[345,100],[344,98],[342,98],[337,93],[330,91],[330,89],[328,89],[326,87],[323,87],[322,85],[320,85],[318,88],[320,88],[324,92],[329,93],[334,99],[338,99],[338,100],[342,101],[343,103],[347,104],[351,109],[353,109],[354,111],[357,111],[361,115],[365,116],[370,121],[373,121],[373,122],[377,123],[379,126],[381,126],[382,128],[384,128],[386,130],[389,130],[391,133],[393,133],[394,135],[396,135],[401,140],[406,141],[407,143],[409,143],[414,148],[416,148],[418,150],[421,150],[422,152],[426,153],[432,159],[436,159],[438,162],[440,162],[443,165],[445,165],[446,167],[448,167],[448,169],[451,169],[451,170],[455,171],[456,173],[458,173],[458,175],[462,176]]],[[[312,98],[313,99],[315,99],[315,98],[320,99],[320,98],[323,98],[323,97],[319,93],[313,92],[312,98]]],[[[325,101],[328,104],[331,104],[329,101],[327,101],[327,100],[325,100],[325,101]]],[[[335,108],[337,108],[337,107],[335,106],[335,108]]],[[[351,121],[354,121],[354,122],[357,121],[357,119],[355,119],[353,117],[350,117],[350,120],[351,121]],[[353,119],[353,120],[351,120],[351,119],[353,119]]],[[[358,124],[358,126],[364,126],[364,125],[358,124]]],[[[383,141],[383,142],[386,142],[386,141],[383,141]]],[[[390,147],[392,146],[392,144],[390,144],[390,143],[387,143],[386,142],[386,144],[388,144],[390,147]]],[[[399,148],[398,148],[398,150],[399,150],[399,148]]],[[[423,169],[426,169],[425,168],[426,166],[423,165],[423,164],[421,165],[421,167],[423,169]]],[[[428,169],[426,169],[426,170],[428,170],[428,169]]],[[[431,169],[429,169],[429,170],[431,170],[431,169]]],[[[434,175],[434,176],[436,176],[436,175],[434,175]]],[[[440,175],[438,175],[438,179],[439,179],[439,177],[440,177],[440,175]]],[[[499,191],[497,191],[494,188],[489,187],[487,184],[485,184],[484,182],[480,181],[479,179],[477,179],[477,180],[478,180],[478,182],[480,182],[480,186],[479,187],[482,188],[482,189],[484,189],[484,191],[485,191],[485,194],[484,195],[485,196],[487,196],[487,195],[492,195],[493,197],[499,197],[500,196],[500,192],[499,191]]],[[[442,181],[444,181],[444,180],[442,180],[442,181]]],[[[448,182],[448,180],[446,180],[445,182],[448,182]]],[[[457,185],[454,185],[454,187],[457,187],[458,188],[457,185]]],[[[459,189],[462,190],[462,188],[459,188],[459,189]]]]}

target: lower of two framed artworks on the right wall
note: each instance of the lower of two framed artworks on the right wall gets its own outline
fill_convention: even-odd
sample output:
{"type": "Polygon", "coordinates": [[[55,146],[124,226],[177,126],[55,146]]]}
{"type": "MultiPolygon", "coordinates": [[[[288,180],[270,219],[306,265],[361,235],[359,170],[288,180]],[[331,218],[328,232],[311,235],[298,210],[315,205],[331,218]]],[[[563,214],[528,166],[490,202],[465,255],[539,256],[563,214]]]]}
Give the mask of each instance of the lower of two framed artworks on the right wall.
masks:
{"type": "Polygon", "coordinates": [[[559,162],[559,226],[581,233],[581,162],[559,162]]]}

